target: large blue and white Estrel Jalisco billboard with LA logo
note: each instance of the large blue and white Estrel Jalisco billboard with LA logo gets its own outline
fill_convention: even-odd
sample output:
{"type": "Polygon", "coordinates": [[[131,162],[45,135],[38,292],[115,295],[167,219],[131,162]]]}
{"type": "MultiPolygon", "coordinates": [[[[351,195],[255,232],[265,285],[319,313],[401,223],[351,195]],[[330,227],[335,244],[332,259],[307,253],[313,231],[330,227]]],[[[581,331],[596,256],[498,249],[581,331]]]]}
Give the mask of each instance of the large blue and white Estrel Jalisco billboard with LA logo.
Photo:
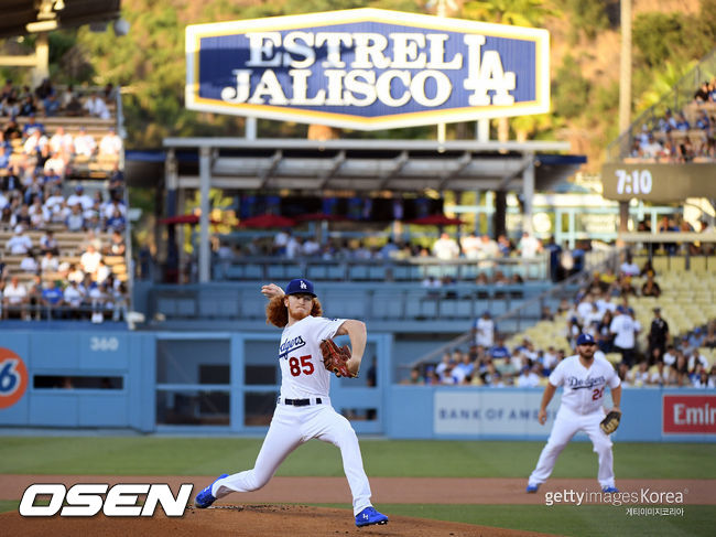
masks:
{"type": "Polygon", "coordinates": [[[376,130],[542,114],[549,32],[356,9],[186,28],[186,107],[376,130]]]}

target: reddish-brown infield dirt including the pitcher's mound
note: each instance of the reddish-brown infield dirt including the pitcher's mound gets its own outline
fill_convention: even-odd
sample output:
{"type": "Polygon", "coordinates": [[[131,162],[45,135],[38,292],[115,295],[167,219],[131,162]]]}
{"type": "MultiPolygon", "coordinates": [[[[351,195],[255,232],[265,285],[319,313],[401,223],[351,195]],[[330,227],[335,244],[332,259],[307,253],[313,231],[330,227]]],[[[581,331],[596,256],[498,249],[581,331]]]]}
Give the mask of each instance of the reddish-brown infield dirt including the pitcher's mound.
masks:
{"type": "MultiPolygon", "coordinates": [[[[32,483],[169,483],[176,493],[182,483],[194,491],[206,486],[209,476],[86,476],[86,475],[8,475],[0,476],[0,500],[19,500],[32,483]]],[[[524,480],[517,479],[425,479],[372,477],[373,502],[381,504],[534,504],[544,505],[546,492],[597,492],[595,480],[550,480],[538,494],[524,493],[524,480]]],[[[684,504],[716,505],[716,480],[621,480],[622,492],[683,493],[684,504]]],[[[518,537],[544,534],[484,527],[469,524],[392,516],[387,526],[358,529],[349,508],[306,506],[307,503],[350,503],[345,477],[274,477],[260,491],[232,494],[218,501],[215,508],[188,507],[181,518],[164,516],[161,508],[151,518],[22,518],[17,512],[0,515],[6,535],[23,536],[131,536],[184,537],[231,535],[247,537],[316,537],[338,535],[411,537],[518,537]],[[246,502],[250,502],[247,504],[246,502]],[[264,504],[264,505],[261,505],[264,504]],[[281,505],[299,504],[299,505],[281,505]]]]}

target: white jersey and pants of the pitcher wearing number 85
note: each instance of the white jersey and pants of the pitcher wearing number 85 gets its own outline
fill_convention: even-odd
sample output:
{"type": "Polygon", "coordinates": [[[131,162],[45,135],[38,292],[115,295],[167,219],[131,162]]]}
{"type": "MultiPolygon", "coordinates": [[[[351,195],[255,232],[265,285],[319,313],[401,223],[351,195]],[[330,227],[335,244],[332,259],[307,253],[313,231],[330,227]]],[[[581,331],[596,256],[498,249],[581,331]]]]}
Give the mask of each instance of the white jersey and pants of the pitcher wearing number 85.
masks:
{"type": "Polygon", "coordinates": [[[283,329],[279,346],[281,397],[259,457],[252,470],[216,481],[211,491],[214,496],[261,488],[289,453],[317,438],[340,449],[354,498],[354,515],[371,505],[370,485],[364,471],[358,438],[350,422],[330,406],[328,390],[332,374],[323,365],[318,346],[322,340],[333,337],[344,322],[344,319],[308,315],[283,329]],[[300,400],[303,405],[286,405],[286,400],[300,400]]]}

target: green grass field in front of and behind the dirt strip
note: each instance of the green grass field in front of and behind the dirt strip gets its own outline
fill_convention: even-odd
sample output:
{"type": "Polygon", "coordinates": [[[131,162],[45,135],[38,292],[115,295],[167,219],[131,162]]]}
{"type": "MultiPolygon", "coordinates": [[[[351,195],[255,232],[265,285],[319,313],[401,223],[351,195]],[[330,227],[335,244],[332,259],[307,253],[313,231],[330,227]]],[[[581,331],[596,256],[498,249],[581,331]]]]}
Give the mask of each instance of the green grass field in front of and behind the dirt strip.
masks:
{"type": "MultiPolygon", "coordinates": [[[[216,475],[250,468],[261,439],[167,437],[0,437],[0,475],[145,474],[216,475]]],[[[361,440],[369,476],[524,477],[542,442],[361,440]]],[[[716,445],[617,443],[615,472],[621,479],[716,479],[716,445]]],[[[572,442],[554,477],[595,477],[588,442],[572,442]]],[[[340,476],[338,450],[308,442],[279,469],[285,476],[340,476]]],[[[1,479],[1,476],[0,476],[1,479]]],[[[716,491],[714,491],[716,494],[716,491]]],[[[19,500],[19,498],[18,498],[19,500]]],[[[0,511],[18,502],[0,502],[0,511]]],[[[337,505],[348,508],[348,505],[337,505]]],[[[686,505],[683,516],[629,516],[609,505],[381,505],[386,513],[514,529],[586,536],[712,536],[716,506],[686,505]]]]}

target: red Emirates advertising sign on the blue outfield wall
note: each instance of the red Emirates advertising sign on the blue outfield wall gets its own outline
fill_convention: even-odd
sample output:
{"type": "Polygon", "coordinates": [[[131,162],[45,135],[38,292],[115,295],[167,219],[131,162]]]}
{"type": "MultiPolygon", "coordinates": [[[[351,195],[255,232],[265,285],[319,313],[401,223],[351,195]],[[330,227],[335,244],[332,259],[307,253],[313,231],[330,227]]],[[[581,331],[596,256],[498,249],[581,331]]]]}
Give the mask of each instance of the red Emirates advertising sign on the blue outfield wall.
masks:
{"type": "Polygon", "coordinates": [[[716,395],[664,395],[664,434],[716,434],[716,395]]]}

